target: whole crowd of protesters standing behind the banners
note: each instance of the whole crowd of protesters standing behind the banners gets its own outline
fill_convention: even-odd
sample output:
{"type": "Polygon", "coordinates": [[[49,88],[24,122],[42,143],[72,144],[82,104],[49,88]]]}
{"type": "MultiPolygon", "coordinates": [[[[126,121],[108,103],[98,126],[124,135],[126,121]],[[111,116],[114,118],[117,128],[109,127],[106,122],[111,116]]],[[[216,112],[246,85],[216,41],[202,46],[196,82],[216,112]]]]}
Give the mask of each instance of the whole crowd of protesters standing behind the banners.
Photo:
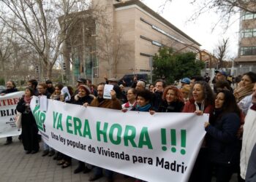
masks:
{"type": "MultiPolygon", "coordinates": [[[[20,140],[26,154],[35,154],[39,151],[37,124],[29,107],[32,95],[46,95],[49,99],[61,102],[85,107],[112,108],[123,112],[209,114],[209,121],[204,124],[206,137],[189,181],[210,182],[215,175],[217,182],[225,182],[230,181],[233,173],[238,173],[239,182],[256,181],[256,162],[253,160],[256,154],[252,153],[256,149],[256,132],[253,130],[256,129],[256,74],[252,71],[245,73],[234,90],[227,81],[225,71],[216,71],[214,80],[212,89],[208,76],[181,79],[179,88],[175,85],[166,85],[162,79],[146,87],[144,80],[135,78],[132,87],[128,88],[125,87],[125,82],[120,84],[115,78],[105,78],[105,82],[98,84],[97,87],[91,84],[91,80],[80,78],[74,91],[72,87],[61,83],[53,87],[50,80],[38,84],[37,80],[31,79],[25,95],[17,106],[17,111],[23,115],[20,140]],[[105,84],[113,85],[111,99],[103,98],[105,84]]],[[[15,83],[10,81],[7,82],[7,90],[1,95],[17,91],[15,83]]],[[[11,137],[7,138],[5,144],[10,143],[11,137]]],[[[62,168],[72,165],[71,157],[43,143],[42,157],[45,156],[53,156],[53,159],[58,160],[57,165],[61,165],[62,168]]],[[[108,181],[113,181],[113,171],[86,162],[78,164],[74,173],[89,173],[93,170],[89,181],[96,181],[103,174],[108,181]]]]}

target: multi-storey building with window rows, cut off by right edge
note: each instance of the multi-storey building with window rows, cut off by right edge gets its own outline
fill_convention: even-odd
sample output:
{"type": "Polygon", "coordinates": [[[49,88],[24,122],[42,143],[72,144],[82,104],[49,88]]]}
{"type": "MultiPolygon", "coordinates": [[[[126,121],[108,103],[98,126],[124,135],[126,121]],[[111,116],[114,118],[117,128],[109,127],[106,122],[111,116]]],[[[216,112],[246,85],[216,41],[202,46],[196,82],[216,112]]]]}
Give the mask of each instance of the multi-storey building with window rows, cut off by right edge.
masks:
{"type": "Polygon", "coordinates": [[[256,71],[256,13],[241,12],[238,58],[236,66],[244,71],[256,71]]]}

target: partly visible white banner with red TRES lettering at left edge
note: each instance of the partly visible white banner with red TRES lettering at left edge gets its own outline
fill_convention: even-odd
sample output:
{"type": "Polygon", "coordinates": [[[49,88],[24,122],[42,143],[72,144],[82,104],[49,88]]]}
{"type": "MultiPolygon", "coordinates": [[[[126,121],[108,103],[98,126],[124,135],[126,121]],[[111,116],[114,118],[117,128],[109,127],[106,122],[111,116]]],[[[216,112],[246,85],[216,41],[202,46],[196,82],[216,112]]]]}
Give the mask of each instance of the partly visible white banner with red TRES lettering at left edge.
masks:
{"type": "Polygon", "coordinates": [[[0,138],[20,135],[21,130],[16,127],[15,115],[19,98],[24,92],[13,92],[0,95],[0,138]]]}

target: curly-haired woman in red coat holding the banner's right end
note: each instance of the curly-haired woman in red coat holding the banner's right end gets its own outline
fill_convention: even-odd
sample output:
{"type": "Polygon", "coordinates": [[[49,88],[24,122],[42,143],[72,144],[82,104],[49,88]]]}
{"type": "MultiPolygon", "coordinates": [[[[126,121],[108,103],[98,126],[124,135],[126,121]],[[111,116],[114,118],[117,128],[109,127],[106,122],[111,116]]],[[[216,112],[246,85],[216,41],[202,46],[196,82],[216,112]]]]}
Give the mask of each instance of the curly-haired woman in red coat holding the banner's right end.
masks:
{"type": "MultiPolygon", "coordinates": [[[[214,111],[214,93],[211,90],[211,87],[208,83],[204,81],[195,82],[192,87],[192,98],[189,98],[189,101],[185,104],[183,111],[185,113],[195,113],[197,115],[202,115],[204,113],[213,114],[214,111]]],[[[190,175],[189,181],[194,182],[204,182],[202,180],[203,171],[206,169],[206,157],[208,151],[206,149],[206,143],[203,143],[197,159],[195,161],[194,168],[192,170],[192,174],[190,175]]]]}

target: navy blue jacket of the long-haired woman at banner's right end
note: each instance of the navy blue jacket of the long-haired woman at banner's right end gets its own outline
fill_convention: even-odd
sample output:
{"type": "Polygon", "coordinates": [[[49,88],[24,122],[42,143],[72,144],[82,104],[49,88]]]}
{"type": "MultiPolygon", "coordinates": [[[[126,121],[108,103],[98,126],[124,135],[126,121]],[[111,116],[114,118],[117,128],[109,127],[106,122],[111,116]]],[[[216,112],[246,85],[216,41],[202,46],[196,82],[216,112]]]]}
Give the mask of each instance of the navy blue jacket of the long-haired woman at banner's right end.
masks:
{"type": "Polygon", "coordinates": [[[206,127],[208,157],[211,162],[219,165],[233,165],[239,162],[240,149],[236,133],[240,127],[240,118],[236,113],[216,118],[206,127]]]}

